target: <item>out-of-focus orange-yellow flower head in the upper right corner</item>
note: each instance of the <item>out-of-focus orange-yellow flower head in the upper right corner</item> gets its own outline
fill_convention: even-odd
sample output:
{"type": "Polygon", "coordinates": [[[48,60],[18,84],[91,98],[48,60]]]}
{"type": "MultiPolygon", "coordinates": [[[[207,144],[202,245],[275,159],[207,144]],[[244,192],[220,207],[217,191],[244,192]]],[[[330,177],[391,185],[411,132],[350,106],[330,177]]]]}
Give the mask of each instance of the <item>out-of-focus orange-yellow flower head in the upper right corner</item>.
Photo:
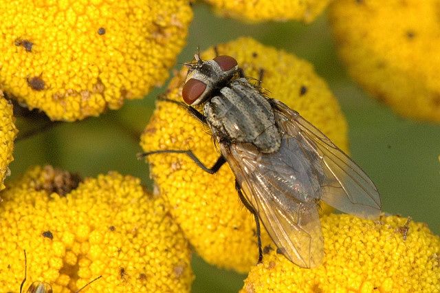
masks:
{"type": "Polygon", "coordinates": [[[355,80],[403,116],[440,122],[439,1],[336,0],[329,15],[355,80]]]}

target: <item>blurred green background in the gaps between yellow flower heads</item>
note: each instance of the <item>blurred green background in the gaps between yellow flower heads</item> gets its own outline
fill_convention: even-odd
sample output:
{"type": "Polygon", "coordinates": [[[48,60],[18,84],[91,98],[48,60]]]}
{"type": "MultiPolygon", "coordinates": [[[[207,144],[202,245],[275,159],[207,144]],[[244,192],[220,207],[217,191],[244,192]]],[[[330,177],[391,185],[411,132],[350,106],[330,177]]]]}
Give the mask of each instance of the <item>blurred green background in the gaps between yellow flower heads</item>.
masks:
{"type": "MultiPolygon", "coordinates": [[[[440,233],[440,125],[407,120],[373,100],[353,80],[336,56],[324,14],[311,25],[286,23],[244,24],[216,17],[201,4],[194,6],[188,44],[179,63],[192,60],[201,50],[252,36],[265,45],[283,49],[314,64],[340,101],[349,123],[351,157],[369,174],[382,194],[386,213],[411,216],[440,233]]],[[[15,144],[15,161],[10,165],[17,177],[31,165],[52,164],[86,176],[116,170],[148,180],[148,166],[136,160],[139,135],[154,109],[155,97],[166,85],[143,100],[126,102],[119,111],[75,123],[56,124],[15,144]]],[[[276,98],[276,97],[274,97],[276,98]]],[[[24,131],[30,125],[19,120],[24,131]]],[[[192,292],[236,292],[245,275],[219,270],[193,259],[196,279],[192,292]]]]}

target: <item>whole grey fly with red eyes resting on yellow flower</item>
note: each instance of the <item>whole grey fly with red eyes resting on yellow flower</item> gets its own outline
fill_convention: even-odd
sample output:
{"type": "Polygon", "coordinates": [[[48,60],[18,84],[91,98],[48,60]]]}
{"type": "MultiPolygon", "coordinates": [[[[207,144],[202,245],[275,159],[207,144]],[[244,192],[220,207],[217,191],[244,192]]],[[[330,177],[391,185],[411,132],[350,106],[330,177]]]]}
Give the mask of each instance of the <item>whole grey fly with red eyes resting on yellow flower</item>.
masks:
{"type": "Polygon", "coordinates": [[[254,215],[263,259],[260,221],[278,251],[303,268],[320,265],[324,241],[318,215],[320,200],[358,217],[380,214],[380,195],[370,178],[338,146],[300,114],[267,98],[249,83],[231,56],[188,64],[183,105],[208,124],[220,157],[208,168],[190,150],[185,153],[208,173],[228,162],[236,191],[254,215]],[[203,111],[195,106],[200,105],[203,111]]]}

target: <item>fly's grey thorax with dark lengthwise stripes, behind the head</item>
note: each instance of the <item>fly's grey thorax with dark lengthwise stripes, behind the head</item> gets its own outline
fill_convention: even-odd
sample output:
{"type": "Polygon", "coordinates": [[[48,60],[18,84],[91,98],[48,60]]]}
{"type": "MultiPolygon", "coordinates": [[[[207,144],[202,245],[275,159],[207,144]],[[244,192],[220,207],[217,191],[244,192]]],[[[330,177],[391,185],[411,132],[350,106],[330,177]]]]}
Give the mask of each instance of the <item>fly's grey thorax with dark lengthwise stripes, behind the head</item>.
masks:
{"type": "Polygon", "coordinates": [[[221,88],[218,96],[206,102],[203,114],[218,141],[250,143],[262,153],[280,148],[272,107],[245,78],[221,88]]]}

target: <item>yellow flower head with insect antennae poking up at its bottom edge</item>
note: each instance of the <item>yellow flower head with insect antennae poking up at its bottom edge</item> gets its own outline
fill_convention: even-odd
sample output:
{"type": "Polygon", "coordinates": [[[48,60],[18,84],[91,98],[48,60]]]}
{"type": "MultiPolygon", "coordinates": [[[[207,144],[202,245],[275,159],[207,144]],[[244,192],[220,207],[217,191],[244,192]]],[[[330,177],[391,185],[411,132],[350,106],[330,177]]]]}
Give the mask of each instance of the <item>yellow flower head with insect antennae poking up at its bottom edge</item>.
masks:
{"type": "Polygon", "coordinates": [[[118,173],[78,177],[35,167],[0,205],[0,292],[44,281],[54,292],[189,292],[190,250],[163,200],[118,173]]]}

